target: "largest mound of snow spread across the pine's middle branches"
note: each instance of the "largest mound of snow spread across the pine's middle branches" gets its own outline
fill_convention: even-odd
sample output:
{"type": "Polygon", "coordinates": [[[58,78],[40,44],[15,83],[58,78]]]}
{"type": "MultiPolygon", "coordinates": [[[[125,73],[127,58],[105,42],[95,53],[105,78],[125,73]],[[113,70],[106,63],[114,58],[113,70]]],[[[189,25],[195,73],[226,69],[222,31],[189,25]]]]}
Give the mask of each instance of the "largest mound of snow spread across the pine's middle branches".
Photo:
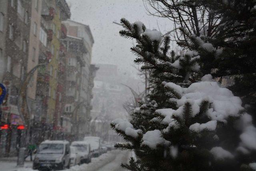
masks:
{"type": "MultiPolygon", "coordinates": [[[[225,119],[227,119],[228,116],[239,116],[239,111],[244,109],[241,106],[241,99],[235,97],[229,89],[222,88],[217,82],[213,82],[210,74],[204,76],[202,82],[193,83],[188,88],[183,88],[179,85],[174,86],[173,83],[165,83],[164,86],[173,87],[174,90],[181,95],[180,99],[170,99],[170,101],[177,103],[178,109],[176,111],[172,109],[165,111],[165,113],[168,112],[169,115],[177,115],[182,118],[183,107],[185,103],[189,102],[192,105],[193,116],[195,116],[198,114],[200,104],[203,100],[212,103],[212,108],[207,111],[207,115],[211,120],[226,122],[225,119]]],[[[166,116],[165,113],[162,113],[162,115],[166,116]]]]}

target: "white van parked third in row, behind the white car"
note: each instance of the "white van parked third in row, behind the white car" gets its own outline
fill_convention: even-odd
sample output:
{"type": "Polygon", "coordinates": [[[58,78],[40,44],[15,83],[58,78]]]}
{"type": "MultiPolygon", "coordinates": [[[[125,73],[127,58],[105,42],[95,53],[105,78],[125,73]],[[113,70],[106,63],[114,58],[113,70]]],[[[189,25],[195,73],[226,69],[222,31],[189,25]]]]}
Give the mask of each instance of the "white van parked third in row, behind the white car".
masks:
{"type": "Polygon", "coordinates": [[[101,155],[100,137],[84,137],[84,141],[90,144],[93,157],[99,157],[101,155]]]}

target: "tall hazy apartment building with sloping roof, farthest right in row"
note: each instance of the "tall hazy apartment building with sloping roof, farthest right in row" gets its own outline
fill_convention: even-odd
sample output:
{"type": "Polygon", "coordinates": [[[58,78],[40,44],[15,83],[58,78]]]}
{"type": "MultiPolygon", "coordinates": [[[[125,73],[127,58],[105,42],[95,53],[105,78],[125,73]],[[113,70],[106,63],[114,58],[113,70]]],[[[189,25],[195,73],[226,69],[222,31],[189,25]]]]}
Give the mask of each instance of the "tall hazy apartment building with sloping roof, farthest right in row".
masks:
{"type": "Polygon", "coordinates": [[[80,71],[77,72],[79,80],[78,87],[76,87],[76,92],[78,93],[76,95],[77,103],[70,104],[67,101],[66,106],[71,105],[73,107],[73,110],[71,110],[73,119],[75,117],[73,122],[77,123],[73,127],[76,130],[76,135],[81,139],[88,132],[90,123],[90,101],[92,97],[90,79],[93,78],[92,73],[95,72],[95,68],[91,67],[94,39],[89,26],[72,20],[66,20],[62,23],[65,24],[68,30],[68,36],[63,40],[63,43],[68,51],[76,57],[73,59],[74,63],[80,66],[80,71]]]}

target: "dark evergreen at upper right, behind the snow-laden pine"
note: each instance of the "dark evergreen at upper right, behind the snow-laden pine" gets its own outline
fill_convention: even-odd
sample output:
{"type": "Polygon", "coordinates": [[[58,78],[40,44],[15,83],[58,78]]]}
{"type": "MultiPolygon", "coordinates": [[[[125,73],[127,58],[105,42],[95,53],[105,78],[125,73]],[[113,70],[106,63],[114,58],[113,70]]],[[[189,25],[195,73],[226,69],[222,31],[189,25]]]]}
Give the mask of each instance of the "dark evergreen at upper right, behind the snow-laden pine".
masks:
{"type": "MultiPolygon", "coordinates": [[[[185,2],[185,1],[184,1],[185,2]]],[[[256,113],[256,1],[255,0],[189,0],[196,8],[204,8],[214,13],[218,25],[211,37],[201,37],[215,48],[222,49],[219,56],[206,58],[202,70],[217,69],[212,75],[219,78],[234,80],[229,87],[232,92],[241,97],[244,104],[249,104],[256,113]],[[210,66],[210,67],[209,67],[210,66]]],[[[195,37],[196,38],[196,37],[195,37]]],[[[187,42],[180,42],[190,50],[187,42]]],[[[193,44],[192,44],[193,45],[193,44]]],[[[256,115],[254,116],[254,118],[256,115]]]]}

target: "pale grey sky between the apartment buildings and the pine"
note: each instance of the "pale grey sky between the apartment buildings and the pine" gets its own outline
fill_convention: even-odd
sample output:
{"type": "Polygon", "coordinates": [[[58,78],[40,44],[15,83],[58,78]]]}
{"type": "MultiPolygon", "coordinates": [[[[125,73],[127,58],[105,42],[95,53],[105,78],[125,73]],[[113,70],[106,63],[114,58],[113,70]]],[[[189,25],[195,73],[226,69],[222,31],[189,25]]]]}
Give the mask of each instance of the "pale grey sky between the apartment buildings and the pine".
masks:
{"type": "Polygon", "coordinates": [[[136,74],[130,52],[132,40],[119,36],[122,26],[114,24],[122,17],[130,22],[141,21],[147,28],[162,33],[172,30],[170,20],[148,16],[142,0],[67,0],[71,19],[89,25],[94,37],[92,63],[114,64],[124,73],[136,74]],[[158,25],[157,25],[158,22],[158,25]]]}

